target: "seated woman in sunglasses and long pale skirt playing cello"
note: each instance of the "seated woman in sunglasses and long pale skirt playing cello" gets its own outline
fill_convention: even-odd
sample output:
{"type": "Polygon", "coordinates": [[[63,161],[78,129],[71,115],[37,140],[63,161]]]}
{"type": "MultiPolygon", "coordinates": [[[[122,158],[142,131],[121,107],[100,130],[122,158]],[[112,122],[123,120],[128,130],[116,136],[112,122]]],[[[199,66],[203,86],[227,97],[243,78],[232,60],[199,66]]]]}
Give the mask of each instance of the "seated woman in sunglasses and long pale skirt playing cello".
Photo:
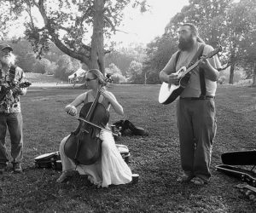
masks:
{"type": "MultiPolygon", "coordinates": [[[[109,108],[119,115],[124,115],[123,107],[116,100],[115,96],[105,89],[106,82],[102,72],[92,69],[86,73],[85,81],[87,82],[89,91],[79,95],[72,103],[65,107],[68,114],[76,116],[77,108],[81,104],[93,102],[99,91],[100,96],[98,102],[101,103],[109,112],[109,108]]],[[[108,124],[105,127],[108,129],[108,124]]],[[[112,133],[101,130],[98,137],[102,140],[101,158],[95,164],[78,164],[73,159],[68,158],[64,152],[65,142],[69,135],[61,141],[60,153],[62,163],[62,174],[57,182],[62,182],[71,176],[73,170],[78,170],[80,175],[87,175],[91,183],[98,187],[108,187],[108,185],[125,184],[132,181],[131,169],[121,157],[119,150],[115,146],[112,133]]]]}

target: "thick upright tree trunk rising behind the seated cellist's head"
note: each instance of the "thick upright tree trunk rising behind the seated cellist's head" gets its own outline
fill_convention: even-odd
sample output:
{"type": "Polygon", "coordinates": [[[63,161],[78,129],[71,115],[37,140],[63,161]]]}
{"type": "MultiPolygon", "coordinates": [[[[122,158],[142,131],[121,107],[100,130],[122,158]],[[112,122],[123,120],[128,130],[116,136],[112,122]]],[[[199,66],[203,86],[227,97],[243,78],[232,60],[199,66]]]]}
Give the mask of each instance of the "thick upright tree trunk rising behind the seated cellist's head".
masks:
{"type": "Polygon", "coordinates": [[[93,33],[91,37],[91,64],[90,69],[99,69],[103,74],[105,73],[104,66],[104,38],[103,38],[103,12],[104,3],[102,0],[94,0],[94,20],[93,33]]]}

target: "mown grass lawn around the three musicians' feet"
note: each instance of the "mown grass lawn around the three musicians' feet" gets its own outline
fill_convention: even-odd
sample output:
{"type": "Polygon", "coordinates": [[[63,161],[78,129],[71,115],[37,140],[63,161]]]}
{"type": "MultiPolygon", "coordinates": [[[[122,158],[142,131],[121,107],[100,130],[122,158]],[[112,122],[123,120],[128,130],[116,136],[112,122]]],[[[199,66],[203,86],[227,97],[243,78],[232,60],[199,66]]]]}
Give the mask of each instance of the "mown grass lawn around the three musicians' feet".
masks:
{"type": "MultiPolygon", "coordinates": [[[[109,90],[125,109],[125,118],[112,113],[110,124],[129,119],[148,136],[121,137],[131,153],[135,185],[96,188],[85,177],[66,183],[57,170],[40,170],[34,158],[58,150],[61,139],[79,122],[64,112],[82,89],[31,87],[21,97],[24,119],[22,174],[1,178],[0,212],[256,212],[256,203],[235,187],[241,183],[214,170],[220,155],[255,149],[256,88],[219,86],[216,100],[218,133],[212,152],[212,179],[203,187],[179,184],[181,172],[175,103],[158,103],[160,85],[114,85],[109,90]]],[[[9,139],[8,139],[9,147],[9,139]]]]}

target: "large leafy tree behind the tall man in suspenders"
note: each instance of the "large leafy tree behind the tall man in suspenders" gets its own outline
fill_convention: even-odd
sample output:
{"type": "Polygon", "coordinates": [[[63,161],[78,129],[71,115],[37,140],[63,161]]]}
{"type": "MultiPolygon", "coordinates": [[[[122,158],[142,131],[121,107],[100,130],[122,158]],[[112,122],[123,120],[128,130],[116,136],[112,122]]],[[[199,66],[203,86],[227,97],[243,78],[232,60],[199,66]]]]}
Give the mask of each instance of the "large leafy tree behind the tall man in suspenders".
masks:
{"type": "MultiPolygon", "coordinates": [[[[214,48],[221,43],[220,58],[230,67],[230,83],[233,83],[236,65],[253,65],[256,52],[256,2],[254,0],[189,0],[180,13],[172,17],[166,32],[148,44],[144,69],[160,72],[171,55],[177,51],[177,29],[185,23],[194,23],[199,28],[203,40],[214,48]],[[168,50],[169,49],[169,50],[168,50]]],[[[254,72],[256,65],[254,64],[254,72]]]]}

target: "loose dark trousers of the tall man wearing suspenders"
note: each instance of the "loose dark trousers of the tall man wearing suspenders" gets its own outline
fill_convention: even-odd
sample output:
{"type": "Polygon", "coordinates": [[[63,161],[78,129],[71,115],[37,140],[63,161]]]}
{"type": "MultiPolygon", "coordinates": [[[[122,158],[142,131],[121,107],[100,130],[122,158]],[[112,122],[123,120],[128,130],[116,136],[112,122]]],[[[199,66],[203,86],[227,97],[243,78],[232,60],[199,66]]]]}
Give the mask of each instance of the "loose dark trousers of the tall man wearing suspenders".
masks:
{"type": "Polygon", "coordinates": [[[206,181],[211,177],[212,144],[217,130],[215,114],[213,99],[177,101],[182,169],[185,174],[206,181]]]}

